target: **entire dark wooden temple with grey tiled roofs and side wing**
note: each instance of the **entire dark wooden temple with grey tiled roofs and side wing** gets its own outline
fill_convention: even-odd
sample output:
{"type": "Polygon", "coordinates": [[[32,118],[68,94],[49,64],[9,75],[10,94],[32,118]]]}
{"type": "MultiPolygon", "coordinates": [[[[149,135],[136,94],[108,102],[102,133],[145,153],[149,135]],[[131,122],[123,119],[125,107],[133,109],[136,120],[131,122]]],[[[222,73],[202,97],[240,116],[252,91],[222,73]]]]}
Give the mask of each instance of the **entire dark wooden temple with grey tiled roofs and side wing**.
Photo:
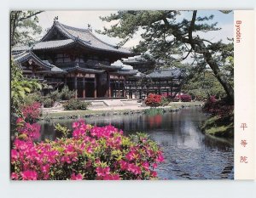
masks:
{"type": "Polygon", "coordinates": [[[47,84],[44,95],[67,85],[81,99],[141,98],[142,93],[177,92],[177,82],[183,79],[179,70],[144,74],[154,68],[152,62],[129,61],[135,55],[129,49],[103,42],[90,27],[75,28],[57,20],[39,42],[15,46],[11,53],[23,76],[47,84]],[[113,65],[119,59],[126,62],[113,65]],[[143,85],[142,79],[150,84],[143,85]]]}

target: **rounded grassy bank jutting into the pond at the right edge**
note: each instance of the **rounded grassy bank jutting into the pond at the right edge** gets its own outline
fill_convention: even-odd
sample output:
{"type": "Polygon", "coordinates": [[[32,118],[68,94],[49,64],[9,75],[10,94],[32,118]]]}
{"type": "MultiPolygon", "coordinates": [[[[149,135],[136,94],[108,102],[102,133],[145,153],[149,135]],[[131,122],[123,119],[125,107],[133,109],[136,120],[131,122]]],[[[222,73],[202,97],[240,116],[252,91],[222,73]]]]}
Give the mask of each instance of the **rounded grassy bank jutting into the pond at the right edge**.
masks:
{"type": "Polygon", "coordinates": [[[211,116],[201,125],[201,131],[217,137],[234,137],[234,114],[211,116]]]}

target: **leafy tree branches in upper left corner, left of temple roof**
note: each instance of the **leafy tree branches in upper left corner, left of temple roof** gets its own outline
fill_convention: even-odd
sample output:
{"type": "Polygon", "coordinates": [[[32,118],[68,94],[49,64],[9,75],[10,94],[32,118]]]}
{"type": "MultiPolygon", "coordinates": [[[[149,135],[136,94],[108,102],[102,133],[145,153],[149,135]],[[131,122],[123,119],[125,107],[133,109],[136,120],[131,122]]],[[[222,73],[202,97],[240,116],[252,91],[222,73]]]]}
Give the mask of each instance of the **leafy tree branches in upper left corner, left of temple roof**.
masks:
{"type": "Polygon", "coordinates": [[[32,44],[32,42],[35,42],[34,36],[42,32],[42,27],[38,25],[38,14],[42,12],[11,11],[11,46],[17,43],[32,44]]]}

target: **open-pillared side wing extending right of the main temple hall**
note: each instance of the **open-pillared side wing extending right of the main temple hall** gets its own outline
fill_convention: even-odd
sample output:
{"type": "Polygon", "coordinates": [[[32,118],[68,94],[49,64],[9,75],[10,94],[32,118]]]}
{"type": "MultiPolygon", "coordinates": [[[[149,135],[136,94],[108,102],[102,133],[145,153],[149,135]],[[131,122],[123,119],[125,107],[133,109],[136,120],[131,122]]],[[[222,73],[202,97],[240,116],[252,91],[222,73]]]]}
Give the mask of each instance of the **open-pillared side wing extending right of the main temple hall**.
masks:
{"type": "Polygon", "coordinates": [[[124,64],[139,71],[126,79],[126,93],[129,98],[142,99],[142,94],[156,93],[175,98],[180,93],[186,74],[178,68],[159,68],[153,61],[125,59],[124,64]]]}

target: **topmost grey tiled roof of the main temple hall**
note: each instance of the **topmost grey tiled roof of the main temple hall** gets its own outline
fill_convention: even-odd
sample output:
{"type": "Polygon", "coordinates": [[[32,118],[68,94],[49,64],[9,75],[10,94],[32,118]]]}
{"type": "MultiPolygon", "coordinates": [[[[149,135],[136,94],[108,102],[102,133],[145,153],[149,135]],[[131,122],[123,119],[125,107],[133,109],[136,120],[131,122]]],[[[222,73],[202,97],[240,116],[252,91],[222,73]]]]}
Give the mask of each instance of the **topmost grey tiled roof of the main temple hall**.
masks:
{"type": "Polygon", "coordinates": [[[89,48],[96,48],[122,54],[131,54],[129,49],[116,48],[116,46],[110,45],[107,42],[103,42],[88,29],[63,25],[58,21],[55,21],[54,25],[51,27],[48,33],[42,38],[41,42],[47,41],[51,31],[53,31],[55,28],[61,31],[61,33],[68,39],[72,39],[73,41],[77,40],[89,48]]]}

